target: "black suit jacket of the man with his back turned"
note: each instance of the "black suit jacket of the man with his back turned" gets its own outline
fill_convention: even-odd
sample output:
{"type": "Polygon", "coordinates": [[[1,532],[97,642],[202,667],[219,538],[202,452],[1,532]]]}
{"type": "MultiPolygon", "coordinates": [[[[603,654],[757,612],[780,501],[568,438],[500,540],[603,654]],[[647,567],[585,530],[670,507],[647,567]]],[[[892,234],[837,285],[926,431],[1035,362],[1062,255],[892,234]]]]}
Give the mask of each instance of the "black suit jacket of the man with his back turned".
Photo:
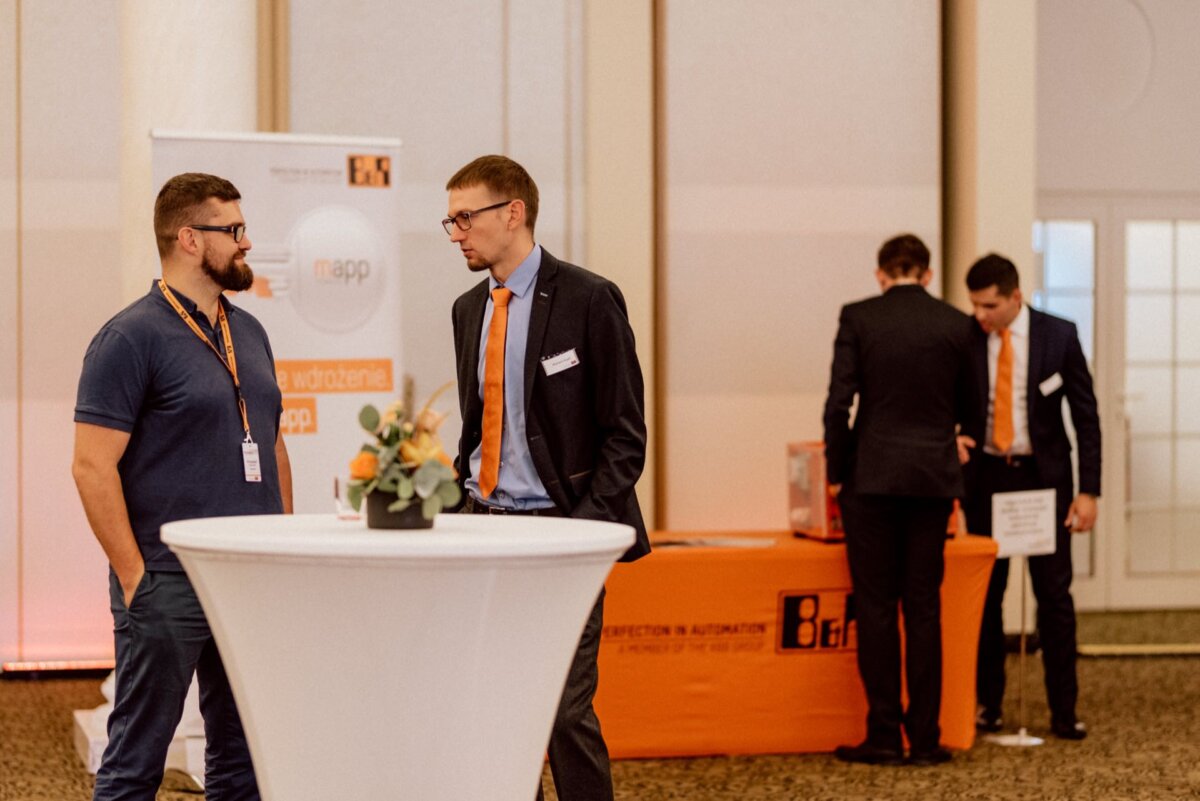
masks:
{"type": "Polygon", "coordinates": [[[870,495],[962,495],[954,438],[972,408],[971,324],[911,284],[842,307],[824,409],[829,483],[870,495]]]}

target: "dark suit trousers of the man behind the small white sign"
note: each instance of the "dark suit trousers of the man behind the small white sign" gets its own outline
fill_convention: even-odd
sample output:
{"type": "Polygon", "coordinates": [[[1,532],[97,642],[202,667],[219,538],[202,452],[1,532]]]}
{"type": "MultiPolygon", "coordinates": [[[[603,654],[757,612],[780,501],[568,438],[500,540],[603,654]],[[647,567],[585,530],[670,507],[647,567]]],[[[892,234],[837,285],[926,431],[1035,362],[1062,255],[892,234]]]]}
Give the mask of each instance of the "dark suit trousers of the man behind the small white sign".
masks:
{"type": "MultiPolygon", "coordinates": [[[[1044,489],[1033,457],[1003,458],[980,454],[976,466],[976,488],[964,504],[967,530],[991,536],[991,496],[995,493],[1044,489]]],[[[1058,487],[1055,519],[1058,526],[1055,553],[1030,556],[1030,582],[1038,602],[1038,634],[1045,673],[1046,700],[1055,721],[1075,722],[1079,682],[1075,676],[1075,602],[1070,597],[1070,530],[1062,524],[1070,508],[1070,484],[1058,487]]],[[[979,658],[976,697],[980,706],[1000,715],[1004,700],[1004,589],[1008,586],[1008,559],[997,559],[988,584],[983,625],[979,628],[979,658]]]]}

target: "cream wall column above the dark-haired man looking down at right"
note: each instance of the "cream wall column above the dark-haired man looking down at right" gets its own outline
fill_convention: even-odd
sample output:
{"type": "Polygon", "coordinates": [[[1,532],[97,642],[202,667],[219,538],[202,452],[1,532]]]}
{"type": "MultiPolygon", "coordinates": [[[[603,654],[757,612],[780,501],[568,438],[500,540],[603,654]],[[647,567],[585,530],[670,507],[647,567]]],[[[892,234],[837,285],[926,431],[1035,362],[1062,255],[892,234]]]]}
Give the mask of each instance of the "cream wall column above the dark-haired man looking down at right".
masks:
{"type": "Polygon", "coordinates": [[[944,295],[995,251],[1033,277],[1037,2],[943,0],[944,295]]]}

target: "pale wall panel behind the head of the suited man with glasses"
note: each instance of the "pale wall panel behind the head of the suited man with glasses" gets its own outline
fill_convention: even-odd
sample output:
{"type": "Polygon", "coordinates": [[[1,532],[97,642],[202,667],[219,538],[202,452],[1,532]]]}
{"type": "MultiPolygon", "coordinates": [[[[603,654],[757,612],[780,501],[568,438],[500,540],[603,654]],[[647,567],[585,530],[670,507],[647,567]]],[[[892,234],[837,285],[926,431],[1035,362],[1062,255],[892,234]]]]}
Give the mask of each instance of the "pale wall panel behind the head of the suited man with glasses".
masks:
{"type": "MultiPolygon", "coordinates": [[[[541,194],[539,242],[578,255],[581,1],[292,0],[290,12],[292,131],[403,141],[403,283],[394,300],[403,368],[428,393],[454,380],[450,306],[479,281],[439,225],[455,170],[485,153],[523,163],[541,194]]],[[[457,417],[443,427],[448,445],[457,417]]]]}

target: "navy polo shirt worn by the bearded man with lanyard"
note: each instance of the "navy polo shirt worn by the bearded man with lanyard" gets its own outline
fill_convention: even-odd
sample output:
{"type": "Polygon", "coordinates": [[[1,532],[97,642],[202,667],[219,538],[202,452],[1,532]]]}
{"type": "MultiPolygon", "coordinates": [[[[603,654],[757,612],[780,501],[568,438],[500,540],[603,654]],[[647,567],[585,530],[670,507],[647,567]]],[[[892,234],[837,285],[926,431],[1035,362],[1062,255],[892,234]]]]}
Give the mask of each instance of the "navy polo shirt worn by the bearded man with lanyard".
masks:
{"type": "MultiPolygon", "coordinates": [[[[174,291],[200,330],[224,353],[220,324],[174,291]]],[[[128,432],[118,465],[130,523],[146,570],[181,571],[158,538],[163,523],[224,514],[283,512],[275,439],[282,411],[266,331],[222,296],[262,482],[246,481],[245,436],[233,377],[179,319],[155,282],[104,324],[83,360],[76,422],[128,432]]]]}

